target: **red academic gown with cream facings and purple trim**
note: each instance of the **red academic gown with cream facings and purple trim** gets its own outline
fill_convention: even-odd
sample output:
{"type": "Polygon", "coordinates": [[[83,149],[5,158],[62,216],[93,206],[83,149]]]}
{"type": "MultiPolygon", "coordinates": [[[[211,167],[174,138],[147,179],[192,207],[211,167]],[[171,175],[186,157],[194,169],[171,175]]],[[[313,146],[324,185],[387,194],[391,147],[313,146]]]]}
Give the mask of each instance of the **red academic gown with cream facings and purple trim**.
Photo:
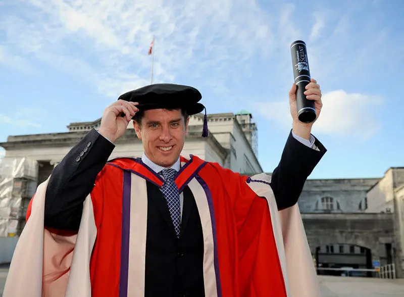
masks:
{"type": "MultiPolygon", "coordinates": [[[[270,177],[241,176],[195,156],[181,157],[181,165],[175,183],[192,191],[203,228],[206,296],[320,296],[298,208],[279,215],[270,177]]],[[[31,292],[40,290],[45,297],[144,295],[146,180],[163,183],[133,159],[107,163],[85,201],[78,234],[34,231],[32,225],[43,223],[46,182],[41,185],[28,208],[5,297],[21,292],[12,278],[21,262],[32,262],[22,251],[27,240],[35,241],[33,250],[43,248],[42,257],[29,263],[33,269],[43,266],[42,287],[32,284],[31,292]]]]}

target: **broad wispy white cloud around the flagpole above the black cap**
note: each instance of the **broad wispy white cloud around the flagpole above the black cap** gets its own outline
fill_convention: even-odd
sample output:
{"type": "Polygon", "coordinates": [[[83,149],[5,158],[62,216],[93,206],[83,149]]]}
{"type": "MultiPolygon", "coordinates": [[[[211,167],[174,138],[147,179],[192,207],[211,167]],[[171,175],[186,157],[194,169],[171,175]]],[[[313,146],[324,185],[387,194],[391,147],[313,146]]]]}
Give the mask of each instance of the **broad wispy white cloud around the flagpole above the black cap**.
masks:
{"type": "Polygon", "coordinates": [[[24,3],[31,5],[26,14],[0,21],[8,43],[114,96],[127,88],[126,77],[134,79],[131,88],[149,82],[153,35],[155,78],[161,81],[185,72],[227,75],[232,64],[268,55],[273,47],[269,17],[248,0],[24,3]]]}

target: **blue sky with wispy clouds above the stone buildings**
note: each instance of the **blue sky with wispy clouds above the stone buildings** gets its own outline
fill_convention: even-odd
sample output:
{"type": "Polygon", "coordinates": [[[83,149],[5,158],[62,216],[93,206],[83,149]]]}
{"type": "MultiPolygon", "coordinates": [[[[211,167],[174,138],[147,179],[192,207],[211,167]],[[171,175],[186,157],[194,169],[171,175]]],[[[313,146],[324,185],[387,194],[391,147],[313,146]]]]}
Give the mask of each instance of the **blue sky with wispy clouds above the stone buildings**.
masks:
{"type": "MultiPolygon", "coordinates": [[[[404,3],[395,1],[5,0],[0,141],[92,121],[150,82],[197,87],[208,113],[249,110],[259,160],[277,165],[291,128],[289,45],[307,42],[328,152],[311,178],[380,177],[404,166],[404,3]]],[[[0,153],[1,154],[1,153],[0,153]]]]}

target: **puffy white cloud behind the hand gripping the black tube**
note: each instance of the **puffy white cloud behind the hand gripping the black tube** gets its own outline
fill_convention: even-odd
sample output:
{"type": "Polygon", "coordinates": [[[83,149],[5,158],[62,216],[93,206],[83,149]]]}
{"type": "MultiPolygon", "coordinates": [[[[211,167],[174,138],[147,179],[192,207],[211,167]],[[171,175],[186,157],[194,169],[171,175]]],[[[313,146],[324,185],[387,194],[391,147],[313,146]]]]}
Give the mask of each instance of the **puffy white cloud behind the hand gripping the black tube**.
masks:
{"type": "MultiPolygon", "coordinates": [[[[322,101],[320,117],[313,125],[314,133],[367,139],[379,131],[377,113],[382,107],[381,97],[335,90],[323,94],[322,101]]],[[[258,103],[255,109],[280,126],[291,127],[287,100],[258,103]]]]}

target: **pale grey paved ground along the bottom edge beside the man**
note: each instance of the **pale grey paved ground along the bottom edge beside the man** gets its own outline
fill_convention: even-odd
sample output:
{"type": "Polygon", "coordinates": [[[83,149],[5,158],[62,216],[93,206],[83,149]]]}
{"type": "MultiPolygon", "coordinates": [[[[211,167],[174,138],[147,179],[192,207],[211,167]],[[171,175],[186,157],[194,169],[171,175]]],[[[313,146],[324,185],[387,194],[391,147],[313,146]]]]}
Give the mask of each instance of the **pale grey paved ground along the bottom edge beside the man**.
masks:
{"type": "MultiPolygon", "coordinates": [[[[7,271],[7,266],[0,266],[0,297],[2,296],[4,283],[6,282],[7,271]]],[[[389,280],[378,278],[321,276],[320,283],[323,297],[404,296],[404,279],[389,280]]]]}

